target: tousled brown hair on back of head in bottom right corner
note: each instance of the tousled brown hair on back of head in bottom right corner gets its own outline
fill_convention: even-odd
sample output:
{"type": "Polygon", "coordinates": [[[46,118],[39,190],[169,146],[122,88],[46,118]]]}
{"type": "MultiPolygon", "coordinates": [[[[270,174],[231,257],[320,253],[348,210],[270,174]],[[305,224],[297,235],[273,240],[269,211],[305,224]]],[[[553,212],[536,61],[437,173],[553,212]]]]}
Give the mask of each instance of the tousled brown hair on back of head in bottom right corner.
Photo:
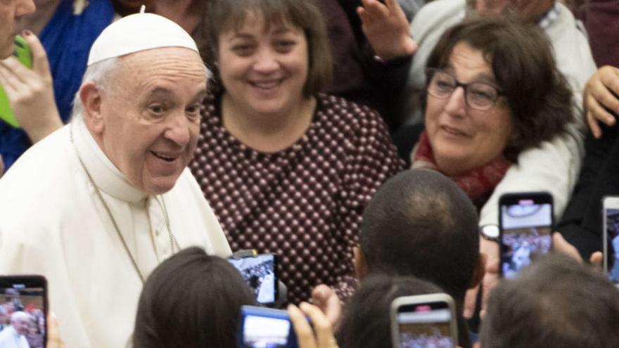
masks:
{"type": "Polygon", "coordinates": [[[619,347],[619,290],[587,266],[550,254],[490,292],[484,348],[619,347]]]}

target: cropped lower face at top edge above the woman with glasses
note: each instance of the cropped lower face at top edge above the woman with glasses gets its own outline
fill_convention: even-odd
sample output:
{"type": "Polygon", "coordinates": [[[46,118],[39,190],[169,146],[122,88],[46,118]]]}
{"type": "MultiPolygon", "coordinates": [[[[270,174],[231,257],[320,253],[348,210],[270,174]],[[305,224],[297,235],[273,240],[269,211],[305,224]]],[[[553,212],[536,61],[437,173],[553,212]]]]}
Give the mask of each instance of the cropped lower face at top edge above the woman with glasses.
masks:
{"type": "Polygon", "coordinates": [[[468,0],[470,8],[485,15],[515,13],[522,20],[539,20],[555,0],[468,0]]]}

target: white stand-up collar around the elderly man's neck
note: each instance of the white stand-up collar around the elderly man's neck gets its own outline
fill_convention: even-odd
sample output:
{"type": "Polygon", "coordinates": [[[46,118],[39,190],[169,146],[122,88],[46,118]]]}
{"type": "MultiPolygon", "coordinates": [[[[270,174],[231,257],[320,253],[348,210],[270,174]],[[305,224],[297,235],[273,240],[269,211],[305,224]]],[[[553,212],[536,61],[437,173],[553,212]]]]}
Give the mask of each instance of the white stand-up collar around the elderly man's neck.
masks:
{"type": "Polygon", "coordinates": [[[103,192],[125,202],[136,203],[148,197],[148,193],[132,186],[125,174],[113,165],[98,146],[81,117],[71,121],[71,132],[77,153],[92,176],[96,186],[103,192]]]}

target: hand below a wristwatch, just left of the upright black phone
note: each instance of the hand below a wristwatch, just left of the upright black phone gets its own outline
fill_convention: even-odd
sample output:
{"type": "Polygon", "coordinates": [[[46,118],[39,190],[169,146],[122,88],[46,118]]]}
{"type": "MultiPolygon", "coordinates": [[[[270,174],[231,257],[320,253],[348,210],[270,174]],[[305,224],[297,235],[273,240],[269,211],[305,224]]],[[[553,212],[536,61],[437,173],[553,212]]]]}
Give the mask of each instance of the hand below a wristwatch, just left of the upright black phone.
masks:
{"type": "Polygon", "coordinates": [[[479,251],[485,254],[486,266],[485,274],[481,285],[471,288],[466,292],[464,297],[464,317],[471,318],[475,313],[475,304],[477,301],[478,290],[482,288],[482,302],[480,316],[483,318],[486,313],[486,302],[490,290],[497,286],[499,282],[499,244],[490,240],[480,238],[479,251]]]}

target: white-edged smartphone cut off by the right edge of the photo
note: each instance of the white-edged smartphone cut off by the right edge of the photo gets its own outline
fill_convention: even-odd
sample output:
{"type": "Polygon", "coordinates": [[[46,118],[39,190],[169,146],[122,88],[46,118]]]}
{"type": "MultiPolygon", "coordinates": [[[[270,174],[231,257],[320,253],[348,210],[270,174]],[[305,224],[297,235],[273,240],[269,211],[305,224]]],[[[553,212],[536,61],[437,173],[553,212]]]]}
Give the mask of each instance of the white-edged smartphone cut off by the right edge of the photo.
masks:
{"type": "Polygon", "coordinates": [[[602,198],[602,244],[604,272],[613,283],[619,283],[619,196],[602,198]],[[608,254],[611,254],[610,263],[608,254]]]}

